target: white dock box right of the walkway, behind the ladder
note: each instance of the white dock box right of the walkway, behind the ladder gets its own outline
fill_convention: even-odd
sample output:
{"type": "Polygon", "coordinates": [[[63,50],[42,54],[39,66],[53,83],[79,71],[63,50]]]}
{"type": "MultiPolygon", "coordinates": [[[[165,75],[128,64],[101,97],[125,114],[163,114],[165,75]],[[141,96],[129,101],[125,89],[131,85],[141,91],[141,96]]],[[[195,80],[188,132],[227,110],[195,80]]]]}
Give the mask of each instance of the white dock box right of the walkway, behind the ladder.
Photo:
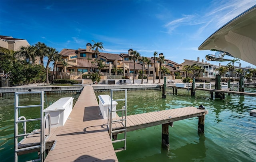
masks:
{"type": "MultiPolygon", "coordinates": [[[[111,99],[108,95],[100,95],[99,97],[99,106],[100,111],[104,119],[108,119],[108,108],[111,108],[111,99]]],[[[118,103],[116,101],[112,102],[113,108],[112,110],[116,110],[116,105],[118,103]]],[[[112,118],[116,117],[116,112],[112,113],[112,118]]]]}

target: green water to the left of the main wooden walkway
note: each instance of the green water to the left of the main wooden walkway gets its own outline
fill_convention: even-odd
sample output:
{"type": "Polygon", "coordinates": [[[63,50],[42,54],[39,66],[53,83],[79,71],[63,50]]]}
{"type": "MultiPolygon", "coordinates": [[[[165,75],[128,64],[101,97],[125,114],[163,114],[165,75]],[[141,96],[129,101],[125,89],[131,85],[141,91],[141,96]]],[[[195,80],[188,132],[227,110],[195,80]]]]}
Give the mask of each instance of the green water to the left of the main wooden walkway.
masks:
{"type": "MultiPolygon", "coordinates": [[[[44,96],[44,108],[50,106],[62,97],[74,97],[73,105],[79,94],[49,94],[44,96]]],[[[40,95],[20,96],[19,105],[40,104],[40,95]]],[[[40,118],[40,108],[22,108],[19,116],[40,118]]],[[[27,122],[27,132],[40,129],[40,122],[27,122]]],[[[21,134],[22,124],[19,124],[21,134]]],[[[37,152],[18,156],[19,162],[37,159],[37,152]]],[[[0,97],[0,162],[14,161],[14,96],[0,97]]]]}

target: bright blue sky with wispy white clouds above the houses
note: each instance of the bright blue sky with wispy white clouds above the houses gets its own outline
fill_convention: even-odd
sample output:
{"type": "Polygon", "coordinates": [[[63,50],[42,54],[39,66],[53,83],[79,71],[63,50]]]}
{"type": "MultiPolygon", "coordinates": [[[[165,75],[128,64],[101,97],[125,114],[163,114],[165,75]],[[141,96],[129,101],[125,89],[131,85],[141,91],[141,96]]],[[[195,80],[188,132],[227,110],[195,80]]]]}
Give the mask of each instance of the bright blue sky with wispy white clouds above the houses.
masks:
{"type": "Polygon", "coordinates": [[[0,35],[26,39],[30,45],[44,42],[59,52],[86,48],[94,40],[103,42],[103,52],[128,53],[132,48],[151,57],[157,51],[181,64],[214,54],[198,47],[255,4],[256,0],[0,0],[0,35]]]}

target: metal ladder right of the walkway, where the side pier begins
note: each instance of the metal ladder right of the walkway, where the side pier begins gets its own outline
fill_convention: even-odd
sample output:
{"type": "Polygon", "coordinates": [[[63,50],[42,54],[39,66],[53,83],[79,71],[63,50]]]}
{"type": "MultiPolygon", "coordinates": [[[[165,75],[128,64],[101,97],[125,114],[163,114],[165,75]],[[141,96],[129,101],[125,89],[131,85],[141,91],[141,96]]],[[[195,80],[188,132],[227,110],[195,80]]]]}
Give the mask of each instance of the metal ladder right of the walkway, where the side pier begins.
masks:
{"type": "Polygon", "coordinates": [[[124,151],[126,150],[126,116],[127,116],[127,89],[115,89],[115,90],[111,90],[111,95],[110,95],[110,99],[111,99],[111,104],[110,104],[110,108],[108,108],[108,129],[109,129],[109,135],[110,138],[112,139],[113,134],[118,133],[118,132],[124,132],[124,138],[119,139],[119,140],[112,140],[112,143],[117,143],[117,142],[124,142],[124,147],[121,148],[116,148],[115,152],[120,152],[120,151],[124,151]],[[123,99],[113,99],[113,92],[114,91],[125,91],[125,96],[123,99]],[[124,101],[124,106],[122,106],[122,109],[120,110],[113,110],[113,106],[112,106],[112,102],[113,101],[124,101]],[[122,112],[122,118],[119,120],[112,120],[112,113],[113,112],[122,112]],[[122,128],[119,128],[117,130],[113,130],[112,124],[115,122],[121,122],[122,124],[122,128]]]}

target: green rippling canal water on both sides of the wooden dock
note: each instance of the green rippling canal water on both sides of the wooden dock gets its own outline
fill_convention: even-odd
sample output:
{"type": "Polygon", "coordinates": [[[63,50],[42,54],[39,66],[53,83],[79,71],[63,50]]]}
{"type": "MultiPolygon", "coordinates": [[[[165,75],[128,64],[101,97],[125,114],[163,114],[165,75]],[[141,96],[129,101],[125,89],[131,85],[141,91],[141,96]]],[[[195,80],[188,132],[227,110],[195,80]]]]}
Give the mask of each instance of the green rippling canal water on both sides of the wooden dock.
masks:
{"type": "MultiPolygon", "coordinates": [[[[256,89],[245,89],[256,93],[256,89]]],[[[109,94],[110,92],[96,92],[109,94]]],[[[48,105],[62,97],[78,98],[78,95],[47,95],[48,105]]],[[[123,92],[116,92],[116,98],[123,92]]],[[[38,96],[21,96],[20,104],[35,103],[38,96]]],[[[249,111],[256,109],[256,97],[226,95],[225,100],[211,100],[210,94],[197,91],[191,97],[185,90],[172,94],[168,89],[166,99],[159,90],[128,91],[128,115],[203,104],[209,114],[205,119],[205,133],[197,133],[198,118],[174,122],[169,127],[170,149],[161,149],[161,126],[154,126],[127,133],[127,150],[118,152],[120,162],[254,162],[256,159],[256,117],[249,111]]],[[[118,108],[123,106],[118,102],[118,108]]],[[[46,107],[46,103],[45,103],[46,107]]],[[[21,112],[36,116],[38,110],[21,112]]],[[[29,131],[39,124],[28,125],[29,131]]],[[[28,131],[28,132],[29,132],[28,131]]],[[[14,97],[0,98],[0,161],[14,159],[14,97]]],[[[19,156],[21,161],[31,160],[35,154],[19,156]]]]}

